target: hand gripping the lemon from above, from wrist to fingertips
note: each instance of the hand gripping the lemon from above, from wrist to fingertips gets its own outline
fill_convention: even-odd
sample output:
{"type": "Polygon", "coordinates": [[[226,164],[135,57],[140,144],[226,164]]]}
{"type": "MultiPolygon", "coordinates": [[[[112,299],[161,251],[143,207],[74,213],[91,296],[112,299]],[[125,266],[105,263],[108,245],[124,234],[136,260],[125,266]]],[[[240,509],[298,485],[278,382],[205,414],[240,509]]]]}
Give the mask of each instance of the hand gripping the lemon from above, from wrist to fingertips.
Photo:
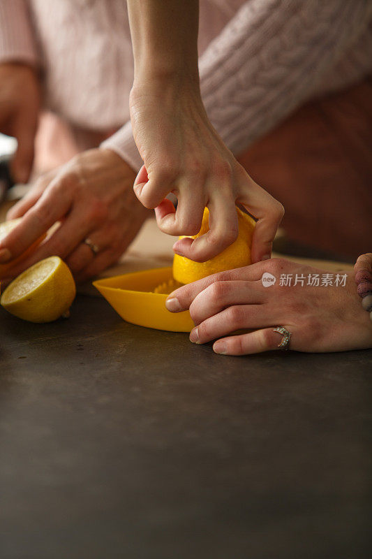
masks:
{"type": "Polygon", "coordinates": [[[272,241],[283,206],[256,184],[223,144],[204,111],[192,80],[168,85],[136,85],[131,92],[131,122],[144,161],[135,180],[135,194],[147,208],[156,208],[159,228],[170,235],[195,235],[205,206],[209,232],[195,240],[178,240],[177,254],[206,261],[235,241],[235,204],[258,219],[252,260],[271,256],[272,241]],[[165,199],[178,198],[177,211],[165,199]]]}

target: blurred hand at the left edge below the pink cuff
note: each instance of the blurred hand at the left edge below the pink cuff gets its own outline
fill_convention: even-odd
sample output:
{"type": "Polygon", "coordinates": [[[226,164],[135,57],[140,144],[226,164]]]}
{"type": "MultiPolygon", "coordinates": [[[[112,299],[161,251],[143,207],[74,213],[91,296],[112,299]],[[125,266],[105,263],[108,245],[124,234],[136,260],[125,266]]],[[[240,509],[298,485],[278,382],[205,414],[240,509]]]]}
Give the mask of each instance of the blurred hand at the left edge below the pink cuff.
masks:
{"type": "Polygon", "coordinates": [[[17,182],[27,182],[31,172],[40,101],[40,82],[31,66],[0,64],[0,132],[17,138],[11,164],[17,182]]]}

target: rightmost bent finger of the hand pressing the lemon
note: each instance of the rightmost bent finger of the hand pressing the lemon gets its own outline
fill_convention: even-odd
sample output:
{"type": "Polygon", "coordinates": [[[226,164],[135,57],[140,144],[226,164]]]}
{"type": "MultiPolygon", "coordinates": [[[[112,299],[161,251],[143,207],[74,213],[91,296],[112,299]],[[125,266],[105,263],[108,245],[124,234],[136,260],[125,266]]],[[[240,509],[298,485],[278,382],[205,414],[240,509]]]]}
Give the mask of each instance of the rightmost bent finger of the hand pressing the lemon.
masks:
{"type": "MultiPolygon", "coordinates": [[[[243,170],[244,171],[244,170],[243,170]]],[[[252,262],[260,262],[271,257],[272,243],[284,215],[280,202],[256,184],[244,171],[240,177],[237,202],[258,221],[252,238],[252,262]],[[246,177],[244,177],[244,173],[246,177]]]]}

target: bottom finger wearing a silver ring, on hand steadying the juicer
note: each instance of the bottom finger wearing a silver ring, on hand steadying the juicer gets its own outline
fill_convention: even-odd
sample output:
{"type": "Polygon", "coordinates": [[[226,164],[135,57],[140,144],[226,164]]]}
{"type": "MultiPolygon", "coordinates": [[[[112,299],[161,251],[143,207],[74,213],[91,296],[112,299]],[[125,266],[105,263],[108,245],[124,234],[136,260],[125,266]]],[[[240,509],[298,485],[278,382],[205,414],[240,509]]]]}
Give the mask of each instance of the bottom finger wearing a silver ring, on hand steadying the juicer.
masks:
{"type": "MultiPolygon", "coordinates": [[[[286,326],[285,326],[286,328],[286,326]]],[[[293,327],[291,327],[293,333],[293,327]]],[[[282,335],[274,328],[263,328],[248,334],[225,337],[213,344],[213,351],[221,355],[248,355],[278,349],[282,335]]]]}

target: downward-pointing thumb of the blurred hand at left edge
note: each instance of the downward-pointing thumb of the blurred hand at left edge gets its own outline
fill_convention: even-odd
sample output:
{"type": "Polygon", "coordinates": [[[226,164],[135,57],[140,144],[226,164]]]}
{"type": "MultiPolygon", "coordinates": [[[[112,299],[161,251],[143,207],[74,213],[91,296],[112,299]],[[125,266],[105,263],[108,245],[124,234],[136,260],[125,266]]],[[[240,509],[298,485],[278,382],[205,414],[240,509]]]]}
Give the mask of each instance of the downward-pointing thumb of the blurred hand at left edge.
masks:
{"type": "Polygon", "coordinates": [[[36,135],[36,119],[20,117],[14,126],[14,136],[17,138],[18,147],[11,170],[16,182],[27,182],[34,163],[34,142],[36,135]]]}

